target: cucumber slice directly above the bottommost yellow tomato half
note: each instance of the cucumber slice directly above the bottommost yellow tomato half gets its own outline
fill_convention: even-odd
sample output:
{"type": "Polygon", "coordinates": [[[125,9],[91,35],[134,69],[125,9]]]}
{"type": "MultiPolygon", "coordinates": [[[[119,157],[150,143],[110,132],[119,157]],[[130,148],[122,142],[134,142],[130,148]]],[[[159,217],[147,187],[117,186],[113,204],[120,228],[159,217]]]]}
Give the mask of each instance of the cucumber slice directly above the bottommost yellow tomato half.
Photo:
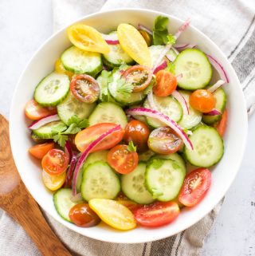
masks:
{"type": "Polygon", "coordinates": [[[81,195],[90,199],[115,199],[120,192],[120,179],[108,163],[97,161],[84,169],[81,195]]]}

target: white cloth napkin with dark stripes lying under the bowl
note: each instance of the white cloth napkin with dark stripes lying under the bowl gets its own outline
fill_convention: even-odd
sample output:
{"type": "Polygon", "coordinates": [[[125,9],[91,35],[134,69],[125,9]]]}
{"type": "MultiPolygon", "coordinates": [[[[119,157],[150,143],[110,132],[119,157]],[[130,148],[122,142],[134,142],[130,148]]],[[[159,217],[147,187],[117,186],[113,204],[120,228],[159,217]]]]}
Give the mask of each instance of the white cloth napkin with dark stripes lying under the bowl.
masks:
{"type": "MultiPolygon", "coordinates": [[[[226,54],[241,81],[248,112],[255,108],[255,3],[251,0],[53,0],[54,30],[86,14],[115,8],[146,8],[173,14],[206,33],[226,54]]],[[[223,202],[223,200],[222,200],[223,202]]],[[[73,255],[196,256],[222,202],[200,222],[170,238],[144,244],[112,244],[86,238],[46,216],[73,255]]],[[[0,256],[41,255],[26,232],[0,213],[0,256]],[[10,242],[11,241],[11,242],[10,242]],[[15,246],[14,246],[15,245],[15,246]]]]}

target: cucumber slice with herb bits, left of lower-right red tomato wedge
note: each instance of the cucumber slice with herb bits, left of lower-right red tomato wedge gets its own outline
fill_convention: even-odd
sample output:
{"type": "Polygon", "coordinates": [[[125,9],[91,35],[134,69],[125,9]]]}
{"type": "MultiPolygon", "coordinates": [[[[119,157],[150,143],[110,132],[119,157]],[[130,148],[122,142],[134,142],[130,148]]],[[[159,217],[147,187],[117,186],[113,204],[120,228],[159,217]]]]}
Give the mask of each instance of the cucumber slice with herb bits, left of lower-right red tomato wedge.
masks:
{"type": "Polygon", "coordinates": [[[167,202],[179,194],[186,171],[174,160],[151,160],[147,164],[145,185],[155,199],[167,202]]]}

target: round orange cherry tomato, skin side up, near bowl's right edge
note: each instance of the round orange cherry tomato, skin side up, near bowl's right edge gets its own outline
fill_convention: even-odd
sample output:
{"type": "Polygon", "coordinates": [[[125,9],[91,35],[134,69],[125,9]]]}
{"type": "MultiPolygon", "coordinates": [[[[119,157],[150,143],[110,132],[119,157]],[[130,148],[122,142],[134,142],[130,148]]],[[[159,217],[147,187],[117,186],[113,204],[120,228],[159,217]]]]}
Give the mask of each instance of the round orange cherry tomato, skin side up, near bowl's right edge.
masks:
{"type": "Polygon", "coordinates": [[[210,112],[215,108],[214,94],[206,89],[198,89],[190,94],[190,106],[200,112],[210,112]]]}

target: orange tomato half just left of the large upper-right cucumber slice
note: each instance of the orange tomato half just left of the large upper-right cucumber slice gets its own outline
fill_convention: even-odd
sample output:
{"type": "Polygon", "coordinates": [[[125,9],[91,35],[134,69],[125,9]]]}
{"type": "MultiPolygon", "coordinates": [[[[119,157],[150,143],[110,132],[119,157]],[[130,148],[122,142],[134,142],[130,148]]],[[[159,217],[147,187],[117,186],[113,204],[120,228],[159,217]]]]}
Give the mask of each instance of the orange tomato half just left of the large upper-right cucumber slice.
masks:
{"type": "Polygon", "coordinates": [[[177,87],[177,79],[175,75],[167,70],[159,70],[156,73],[156,81],[153,86],[153,93],[156,96],[169,96],[177,87]]]}

